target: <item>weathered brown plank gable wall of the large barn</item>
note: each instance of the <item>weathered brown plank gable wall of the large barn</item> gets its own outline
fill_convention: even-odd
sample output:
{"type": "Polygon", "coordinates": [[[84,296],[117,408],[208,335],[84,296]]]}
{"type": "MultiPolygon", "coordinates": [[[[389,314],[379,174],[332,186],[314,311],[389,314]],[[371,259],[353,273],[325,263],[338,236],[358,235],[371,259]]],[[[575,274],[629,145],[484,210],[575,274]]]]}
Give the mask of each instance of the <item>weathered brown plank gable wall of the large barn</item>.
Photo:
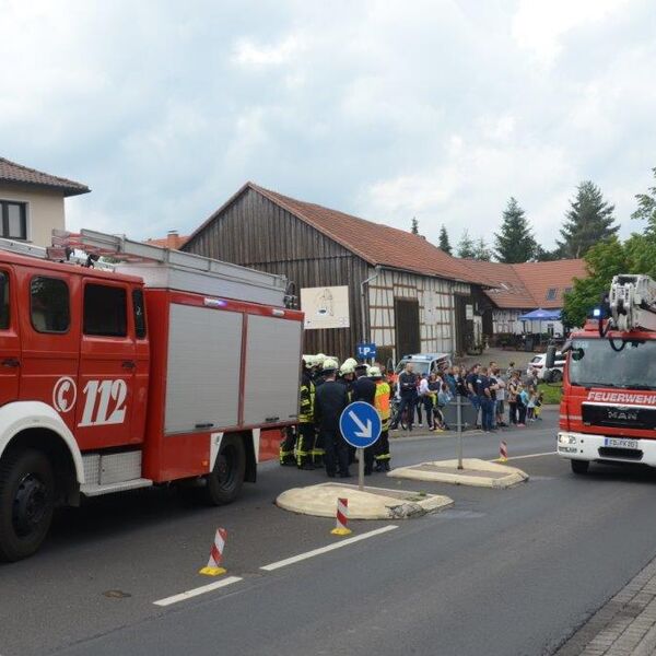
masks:
{"type": "Polygon", "coordinates": [[[185,250],[285,276],[301,288],[349,286],[350,328],[306,330],[306,353],[323,351],[340,360],[361,339],[360,284],[368,265],[319,231],[253,189],[215,216],[185,250]]]}

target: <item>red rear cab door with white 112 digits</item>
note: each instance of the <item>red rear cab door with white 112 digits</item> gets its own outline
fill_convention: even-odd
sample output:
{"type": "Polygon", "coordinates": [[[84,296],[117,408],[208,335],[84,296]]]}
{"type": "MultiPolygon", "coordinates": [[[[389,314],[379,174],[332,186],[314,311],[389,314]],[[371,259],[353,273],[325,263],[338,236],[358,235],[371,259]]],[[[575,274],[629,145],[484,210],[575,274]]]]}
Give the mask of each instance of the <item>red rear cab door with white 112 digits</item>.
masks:
{"type": "Polygon", "coordinates": [[[77,437],[83,450],[141,441],[132,434],[137,368],[130,286],[82,281],[82,335],[78,372],[77,437]]]}

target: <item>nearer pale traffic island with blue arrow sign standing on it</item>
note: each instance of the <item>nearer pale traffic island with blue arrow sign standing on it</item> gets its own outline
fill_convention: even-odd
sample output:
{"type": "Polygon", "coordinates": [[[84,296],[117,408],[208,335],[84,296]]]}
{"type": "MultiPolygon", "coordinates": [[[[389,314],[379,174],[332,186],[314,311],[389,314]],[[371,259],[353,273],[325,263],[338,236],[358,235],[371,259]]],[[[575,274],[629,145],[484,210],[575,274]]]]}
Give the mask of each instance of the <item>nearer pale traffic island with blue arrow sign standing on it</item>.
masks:
{"type": "Polygon", "coordinates": [[[338,499],[349,500],[349,519],[407,519],[435,513],[453,505],[440,494],[364,488],[342,483],[321,483],[293,488],[278,496],[276,505],[303,515],[335,517],[338,499]]]}

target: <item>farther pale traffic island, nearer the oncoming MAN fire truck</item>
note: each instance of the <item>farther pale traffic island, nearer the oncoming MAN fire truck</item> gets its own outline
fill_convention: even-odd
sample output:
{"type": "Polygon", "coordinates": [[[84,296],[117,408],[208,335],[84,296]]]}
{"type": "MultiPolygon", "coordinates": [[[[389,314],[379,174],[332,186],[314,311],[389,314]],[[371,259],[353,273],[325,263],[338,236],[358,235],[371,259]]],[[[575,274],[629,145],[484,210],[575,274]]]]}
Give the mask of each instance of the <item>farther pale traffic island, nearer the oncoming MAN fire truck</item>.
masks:
{"type": "Polygon", "coordinates": [[[465,458],[462,469],[458,469],[458,460],[438,460],[420,462],[411,467],[398,467],[387,476],[415,481],[495,489],[511,488],[528,480],[528,475],[522,469],[478,458],[465,458]]]}

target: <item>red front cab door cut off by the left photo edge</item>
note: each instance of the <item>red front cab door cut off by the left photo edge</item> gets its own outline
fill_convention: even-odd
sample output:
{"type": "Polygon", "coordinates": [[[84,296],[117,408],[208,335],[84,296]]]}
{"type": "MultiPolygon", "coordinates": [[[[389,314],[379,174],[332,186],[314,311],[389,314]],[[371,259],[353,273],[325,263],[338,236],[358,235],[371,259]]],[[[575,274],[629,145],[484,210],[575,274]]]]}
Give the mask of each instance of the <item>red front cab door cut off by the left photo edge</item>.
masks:
{"type": "Polygon", "coordinates": [[[9,266],[0,266],[0,406],[19,398],[21,340],[15,303],[15,279],[9,266]]]}

